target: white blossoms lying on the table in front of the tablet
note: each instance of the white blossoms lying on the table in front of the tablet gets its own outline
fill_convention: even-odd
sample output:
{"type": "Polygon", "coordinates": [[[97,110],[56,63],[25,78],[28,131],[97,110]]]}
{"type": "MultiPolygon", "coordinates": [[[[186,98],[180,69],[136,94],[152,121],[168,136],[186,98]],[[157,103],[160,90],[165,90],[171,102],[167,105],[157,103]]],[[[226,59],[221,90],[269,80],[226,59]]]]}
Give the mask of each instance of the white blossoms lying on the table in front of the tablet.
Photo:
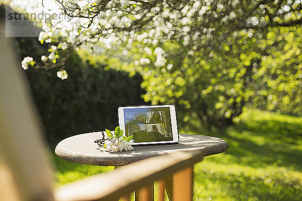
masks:
{"type": "Polygon", "coordinates": [[[131,146],[133,144],[133,140],[130,140],[129,142],[125,141],[122,137],[119,137],[118,139],[111,139],[105,141],[105,148],[109,149],[110,151],[130,151],[133,149],[131,146]]]}

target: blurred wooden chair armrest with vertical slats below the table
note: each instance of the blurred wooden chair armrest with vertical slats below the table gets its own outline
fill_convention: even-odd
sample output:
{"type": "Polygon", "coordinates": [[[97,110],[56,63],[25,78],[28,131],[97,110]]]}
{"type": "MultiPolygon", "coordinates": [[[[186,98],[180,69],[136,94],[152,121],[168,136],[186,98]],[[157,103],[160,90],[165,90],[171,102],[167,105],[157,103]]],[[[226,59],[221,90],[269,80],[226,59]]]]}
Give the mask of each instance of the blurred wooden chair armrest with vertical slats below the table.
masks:
{"type": "Polygon", "coordinates": [[[165,188],[170,200],[193,199],[193,165],[201,161],[201,152],[176,152],[119,167],[111,173],[103,173],[60,187],[54,193],[55,200],[135,200],[154,199],[153,183],[158,181],[156,200],[165,200],[165,188]],[[139,194],[139,195],[137,195],[139,194]]]}

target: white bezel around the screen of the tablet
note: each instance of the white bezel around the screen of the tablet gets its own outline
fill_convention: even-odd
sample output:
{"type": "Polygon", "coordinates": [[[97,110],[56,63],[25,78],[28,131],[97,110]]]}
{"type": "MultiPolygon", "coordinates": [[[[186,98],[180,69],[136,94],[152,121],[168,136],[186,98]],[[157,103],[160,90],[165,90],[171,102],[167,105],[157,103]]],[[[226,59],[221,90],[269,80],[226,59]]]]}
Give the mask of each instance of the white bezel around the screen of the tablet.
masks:
{"type": "Polygon", "coordinates": [[[137,142],[133,145],[159,145],[159,144],[174,144],[179,142],[179,133],[177,126],[177,117],[176,117],[176,107],[175,105],[142,105],[142,106],[121,106],[117,109],[118,112],[118,123],[120,129],[125,132],[125,116],[124,109],[139,109],[139,108],[169,108],[170,118],[171,118],[171,127],[172,127],[172,140],[169,141],[151,141],[151,142],[137,142]]]}

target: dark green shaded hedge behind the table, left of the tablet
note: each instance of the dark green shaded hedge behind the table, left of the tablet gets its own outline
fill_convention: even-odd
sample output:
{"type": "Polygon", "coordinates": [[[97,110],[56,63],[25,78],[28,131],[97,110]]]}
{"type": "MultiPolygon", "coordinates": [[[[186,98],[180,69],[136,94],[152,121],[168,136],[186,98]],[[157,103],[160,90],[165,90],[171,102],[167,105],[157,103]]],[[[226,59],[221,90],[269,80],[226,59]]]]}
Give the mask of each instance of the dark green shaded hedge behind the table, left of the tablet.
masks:
{"type": "MultiPolygon", "coordinates": [[[[26,52],[39,59],[47,51],[35,38],[18,38],[16,43],[20,62],[26,52]]],[[[140,98],[140,75],[104,67],[73,53],[65,64],[67,79],[56,76],[58,68],[25,71],[50,144],[78,133],[114,129],[119,106],[146,104],[140,98]]]]}

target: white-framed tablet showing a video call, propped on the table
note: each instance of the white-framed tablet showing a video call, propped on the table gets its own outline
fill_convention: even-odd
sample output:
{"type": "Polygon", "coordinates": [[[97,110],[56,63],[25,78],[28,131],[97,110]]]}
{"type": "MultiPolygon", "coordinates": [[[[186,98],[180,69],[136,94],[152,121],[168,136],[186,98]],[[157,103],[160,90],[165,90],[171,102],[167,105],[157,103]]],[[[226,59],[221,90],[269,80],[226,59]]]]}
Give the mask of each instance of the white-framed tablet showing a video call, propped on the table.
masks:
{"type": "Polygon", "coordinates": [[[119,107],[118,121],[124,135],[133,135],[133,145],[179,142],[174,105],[119,107]]]}

